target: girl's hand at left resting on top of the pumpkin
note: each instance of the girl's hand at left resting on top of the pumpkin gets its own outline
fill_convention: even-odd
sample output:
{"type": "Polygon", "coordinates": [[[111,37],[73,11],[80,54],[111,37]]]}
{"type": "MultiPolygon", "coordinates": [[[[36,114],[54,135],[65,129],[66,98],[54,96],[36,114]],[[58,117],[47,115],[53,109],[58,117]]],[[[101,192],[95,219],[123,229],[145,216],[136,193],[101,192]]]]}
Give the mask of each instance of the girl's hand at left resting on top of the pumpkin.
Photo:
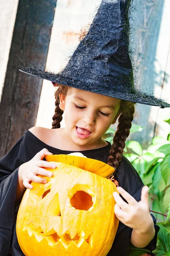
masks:
{"type": "Polygon", "coordinates": [[[30,184],[31,181],[36,183],[47,183],[47,180],[37,175],[52,177],[53,173],[47,171],[45,168],[55,169],[56,165],[54,162],[47,162],[42,160],[45,156],[51,155],[52,153],[48,149],[43,148],[38,152],[30,161],[23,163],[18,170],[18,181],[21,185],[25,186],[27,189],[32,189],[33,186],[30,184]]]}

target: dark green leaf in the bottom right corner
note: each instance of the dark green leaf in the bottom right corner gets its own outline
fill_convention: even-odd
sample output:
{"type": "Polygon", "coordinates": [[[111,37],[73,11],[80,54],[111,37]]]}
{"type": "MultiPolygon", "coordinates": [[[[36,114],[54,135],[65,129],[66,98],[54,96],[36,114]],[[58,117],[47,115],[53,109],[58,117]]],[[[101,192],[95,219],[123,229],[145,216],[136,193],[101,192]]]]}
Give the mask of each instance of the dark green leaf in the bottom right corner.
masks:
{"type": "Polygon", "coordinates": [[[158,239],[163,246],[165,252],[170,252],[170,234],[161,224],[159,224],[158,226],[160,227],[160,230],[158,232],[158,239]]]}

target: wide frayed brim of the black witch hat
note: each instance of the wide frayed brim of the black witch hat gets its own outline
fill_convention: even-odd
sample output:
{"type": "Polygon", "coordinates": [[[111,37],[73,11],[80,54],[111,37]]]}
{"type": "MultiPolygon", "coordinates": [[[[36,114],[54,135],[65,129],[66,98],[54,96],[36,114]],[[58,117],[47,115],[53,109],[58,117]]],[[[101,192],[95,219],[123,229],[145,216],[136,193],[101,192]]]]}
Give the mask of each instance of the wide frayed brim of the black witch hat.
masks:
{"type": "Polygon", "coordinates": [[[136,102],[146,105],[152,105],[152,106],[158,106],[161,108],[168,108],[170,107],[170,104],[165,102],[162,99],[159,99],[152,94],[144,93],[141,90],[138,90],[136,88],[131,88],[128,90],[126,87],[122,87],[121,91],[116,90],[113,87],[110,87],[110,83],[105,83],[104,85],[99,85],[95,83],[91,83],[88,81],[81,80],[80,78],[73,77],[65,77],[62,76],[60,73],[51,73],[46,72],[43,70],[43,68],[39,67],[32,67],[32,66],[23,66],[20,67],[20,71],[30,74],[32,76],[39,77],[41,79],[45,79],[57,84],[66,85],[69,87],[74,87],[79,90],[85,90],[93,93],[102,94],[105,96],[117,98],[117,99],[123,99],[130,102],[136,102]]]}

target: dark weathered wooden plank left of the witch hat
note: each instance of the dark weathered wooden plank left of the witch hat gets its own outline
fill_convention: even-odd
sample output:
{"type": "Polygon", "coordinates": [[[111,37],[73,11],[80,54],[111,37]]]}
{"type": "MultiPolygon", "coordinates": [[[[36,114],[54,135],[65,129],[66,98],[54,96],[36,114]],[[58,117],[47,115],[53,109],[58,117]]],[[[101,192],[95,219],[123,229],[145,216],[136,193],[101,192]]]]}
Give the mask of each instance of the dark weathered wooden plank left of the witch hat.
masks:
{"type": "Polygon", "coordinates": [[[57,0],[20,0],[0,102],[0,156],[34,125],[42,80],[19,72],[20,59],[45,64],[57,0]]]}

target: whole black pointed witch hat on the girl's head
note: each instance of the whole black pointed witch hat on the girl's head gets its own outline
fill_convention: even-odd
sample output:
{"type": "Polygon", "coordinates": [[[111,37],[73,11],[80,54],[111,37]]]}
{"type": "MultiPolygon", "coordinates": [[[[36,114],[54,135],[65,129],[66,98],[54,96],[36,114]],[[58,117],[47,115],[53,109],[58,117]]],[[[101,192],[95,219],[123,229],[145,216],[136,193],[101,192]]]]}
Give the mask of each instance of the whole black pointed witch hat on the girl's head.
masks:
{"type": "Polygon", "coordinates": [[[60,73],[26,65],[20,70],[57,84],[113,98],[170,107],[134,86],[129,56],[129,6],[130,0],[102,0],[87,35],[60,73]]]}

